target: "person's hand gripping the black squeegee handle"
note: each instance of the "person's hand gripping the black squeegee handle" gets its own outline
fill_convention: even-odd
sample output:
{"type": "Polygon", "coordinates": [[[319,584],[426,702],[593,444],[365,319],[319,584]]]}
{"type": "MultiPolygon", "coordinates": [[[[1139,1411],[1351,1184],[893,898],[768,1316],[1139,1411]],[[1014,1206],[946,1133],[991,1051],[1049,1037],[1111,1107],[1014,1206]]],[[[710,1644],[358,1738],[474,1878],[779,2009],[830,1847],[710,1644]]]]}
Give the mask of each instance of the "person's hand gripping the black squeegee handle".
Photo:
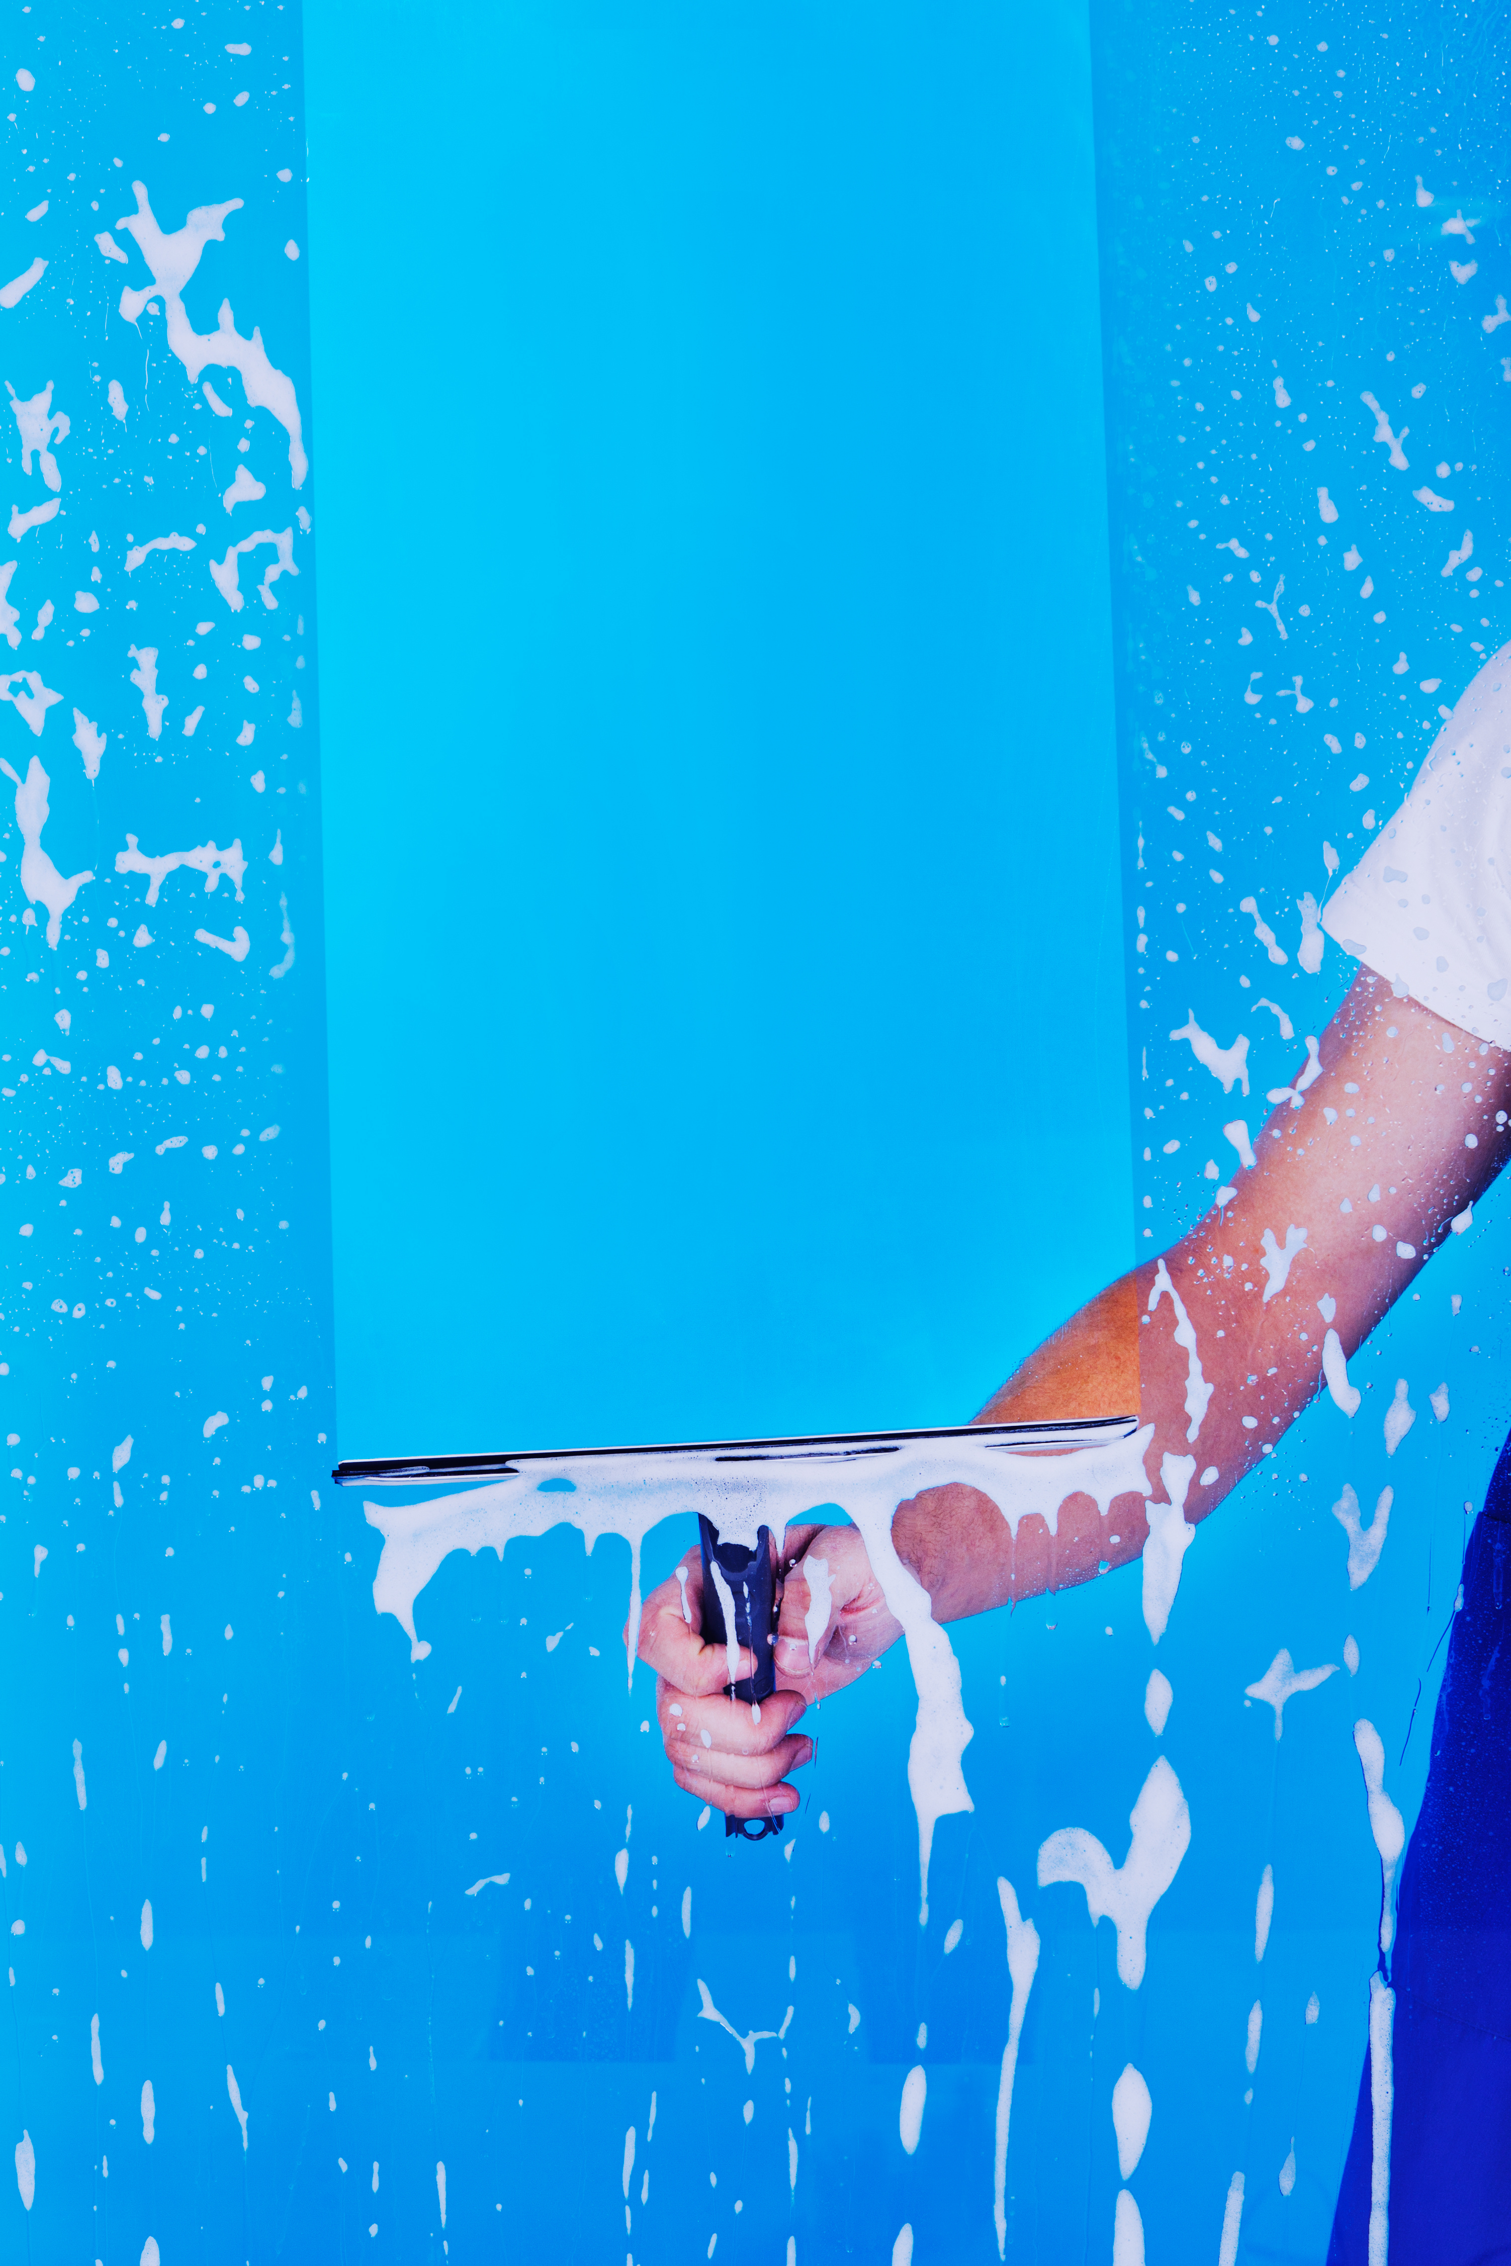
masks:
{"type": "MultiPolygon", "coordinates": [[[[702,1559],[682,1559],[686,1618],[677,1575],[646,1598],[641,1659],[657,1670],[657,1720],[677,1786],[729,1817],[779,1817],[797,1808],[786,1783],[813,1756],[813,1740],[793,1731],[809,1700],[854,1684],[902,1634],[886,1609],[856,1527],[788,1527],[777,1622],[777,1690],[754,1706],[727,1700],[729,1652],[705,1645],[702,1559]],[[804,1570],[813,1561],[813,1575],[804,1570]],[[822,1573],[820,1573],[822,1568],[822,1573]],[[827,1582],[827,1598],[825,1598],[827,1582]],[[813,1620],[809,1643],[806,1618],[813,1620]]],[[[736,1647],[736,1677],[754,1675],[754,1656],[736,1647]]]]}

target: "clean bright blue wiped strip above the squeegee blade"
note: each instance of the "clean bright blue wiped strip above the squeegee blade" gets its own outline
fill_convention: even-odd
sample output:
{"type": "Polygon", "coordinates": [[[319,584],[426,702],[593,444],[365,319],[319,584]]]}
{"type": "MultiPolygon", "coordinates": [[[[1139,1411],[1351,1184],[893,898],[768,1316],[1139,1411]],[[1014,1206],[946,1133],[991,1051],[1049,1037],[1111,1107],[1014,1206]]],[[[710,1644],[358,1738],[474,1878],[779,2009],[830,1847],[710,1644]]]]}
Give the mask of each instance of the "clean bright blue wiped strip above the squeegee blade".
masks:
{"type": "Polygon", "coordinates": [[[1130,1249],[1085,11],[306,63],[342,1448],[958,1423],[1130,1249]]]}

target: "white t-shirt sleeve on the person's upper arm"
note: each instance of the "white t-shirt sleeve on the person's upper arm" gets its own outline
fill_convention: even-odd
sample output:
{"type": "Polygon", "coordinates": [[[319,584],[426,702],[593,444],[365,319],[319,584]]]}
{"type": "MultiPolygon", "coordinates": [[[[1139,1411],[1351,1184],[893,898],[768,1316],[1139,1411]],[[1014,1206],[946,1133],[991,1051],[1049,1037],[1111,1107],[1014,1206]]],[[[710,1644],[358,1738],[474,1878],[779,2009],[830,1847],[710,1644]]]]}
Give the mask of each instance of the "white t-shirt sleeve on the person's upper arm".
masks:
{"type": "Polygon", "coordinates": [[[1323,929],[1434,1015],[1511,1051],[1511,646],[1459,700],[1323,929]]]}

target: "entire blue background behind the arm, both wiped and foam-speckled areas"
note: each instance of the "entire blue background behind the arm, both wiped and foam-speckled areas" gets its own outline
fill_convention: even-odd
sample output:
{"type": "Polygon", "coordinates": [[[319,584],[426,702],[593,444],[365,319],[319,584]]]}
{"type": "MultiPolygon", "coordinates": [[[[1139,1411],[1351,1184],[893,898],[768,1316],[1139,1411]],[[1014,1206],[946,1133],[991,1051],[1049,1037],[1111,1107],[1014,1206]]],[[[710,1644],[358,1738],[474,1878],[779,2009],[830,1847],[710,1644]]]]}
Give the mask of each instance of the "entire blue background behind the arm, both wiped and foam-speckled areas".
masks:
{"type": "MultiPolygon", "coordinates": [[[[1262,1033],[1257,1092],[1298,1067],[1300,1031],[1321,1029],[1348,977],[1334,947],[1318,977],[1294,970],[1294,900],[1321,893],[1321,836],[1346,857],[1350,829],[1361,838],[1355,764],[1380,809],[1405,784],[1432,732],[1418,668],[1450,696],[1468,630],[1500,634],[1500,600],[1482,623],[1466,585],[1439,576],[1439,523],[1414,519],[1357,408],[1361,385],[1386,399],[1409,349],[1425,385],[1414,451],[1488,467],[1466,494],[1479,589],[1495,587],[1482,496],[1504,419],[1482,317],[1500,247],[1486,227],[1475,292],[1450,288],[1411,174],[1488,206],[1500,184],[1493,147],[1466,131],[1398,134],[1427,61],[1454,131],[1475,104],[1497,116],[1488,36],[1427,57],[1402,11],[1386,68],[1371,25],[1339,32],[1305,9],[1266,23],[1280,52],[1260,18],[1217,5],[1099,14],[1112,634],[1081,18],[317,5],[308,238],[299,70],[292,39],[267,36],[292,29],[288,11],[220,0],[172,39],[84,7],[25,18],[25,52],[45,63],[18,111],[14,204],[36,193],[27,168],[50,163],[54,211],[45,236],[16,215],[7,229],[16,267],[32,242],[52,265],[0,326],[0,376],[25,394],[52,374],[75,435],[63,512],[25,537],[11,596],[27,619],[43,594],[61,600],[25,657],[111,736],[97,782],[66,707],[36,743],[54,782],[48,847],[66,872],[97,872],[57,961],[20,922],[5,813],[0,988],[29,1070],[0,1090],[2,1206],[36,1230],[9,1246],[0,1366],[18,1455],[0,1520],[0,1924],[16,1974],[0,2164],[23,2132],[36,2159],[29,2205],[9,2166],[0,2180],[7,2255],[138,2266],[152,2234],[161,2266],[439,2259],[442,2243],[596,2266],[625,2241],[652,2266],[779,2259],[793,2241],[813,2266],[886,2259],[908,2223],[917,2266],[988,2261],[1006,1874],[1042,1935],[1013,2255],[1058,2266],[1110,2246],[1108,2103],[1135,2060],[1155,2103],[1133,2175],[1151,2257],[1212,2257],[1235,2171],[1244,2255],[1321,2257],[1380,1897],[1352,1722],[1380,1724],[1409,1817],[1463,1505],[1504,1423],[1493,1201],[1355,1362],[1357,1423],[1323,1400],[1201,1530],[1158,1656],[1135,1570],[951,1632],[976,1808],[938,1831],[927,1931],[906,1659],[816,1720],[784,1842],[729,1847],[668,1781],[643,1670],[625,1700],[621,1541],[584,1561],[562,1527],[503,1564],[446,1559],[419,1598],[430,1654],[410,1663],[372,1609],[378,1539],[326,1482],[338,1362],[347,1453],[958,1419],[1207,1201],[1201,1160],[1235,1104],[1171,1026],[1194,1008],[1223,1040],[1262,1033]],[[100,68],[104,41],[120,70],[100,68]],[[231,59],[242,45],[247,66],[231,59]],[[1361,93],[1389,150],[1355,147],[1361,93]],[[1318,129],[1318,109],[1337,127],[1318,129]],[[1391,168],[1382,204],[1334,206],[1355,195],[1325,170],[1343,161],[1343,181],[1355,163],[1391,168]],[[93,236],[127,204],[109,184],[136,174],[165,224],[247,199],[188,310],[204,333],[231,295],[313,401],[319,469],[301,499],[317,535],[299,535],[301,580],[279,585],[279,610],[249,600],[238,623],[263,634],[256,664],[236,659],[261,675],[242,680],[256,709],[229,673],[204,553],[118,571],[127,528],[204,523],[208,546],[238,431],[188,387],[156,315],[136,333],[118,320],[122,281],[145,270],[131,247],[118,274],[93,236]],[[1235,276],[1219,286],[1226,256],[1212,261],[1212,290],[1207,261],[1176,249],[1201,224],[1235,238],[1235,276]],[[1371,267],[1382,231],[1389,283],[1371,267]],[[1269,419],[1278,349],[1294,428],[1269,419]],[[100,406],[116,365],[125,428],[100,406]],[[1230,374],[1237,387],[1212,385],[1230,374]],[[1169,508],[1189,494],[1187,385],[1207,403],[1198,446],[1217,465],[1221,444],[1223,471],[1257,467],[1221,505],[1246,517],[1169,508]],[[1463,440],[1441,401],[1463,408],[1463,440]],[[1348,514],[1339,542],[1357,526],[1366,544],[1380,644],[1316,546],[1321,478],[1348,514]],[[88,576],[95,514],[104,603],[86,644],[68,576],[88,576]],[[1232,650],[1239,625],[1273,630],[1237,569],[1232,587],[1214,580],[1230,526],[1255,560],[1273,537],[1287,605],[1312,605],[1289,614],[1287,644],[1318,687],[1305,718],[1271,698],[1287,682],[1273,662],[1232,650]],[[313,659],[315,539],[324,702],[310,666],[294,675],[313,659]],[[147,628],[170,696],[161,743],[122,659],[147,628]],[[199,653],[206,721],[183,739],[199,653]],[[1255,705],[1239,698],[1250,666],[1266,668],[1255,705]],[[290,712],[285,730],[294,682],[304,721],[290,712]],[[1368,750],[1341,766],[1321,739],[1332,696],[1368,750]],[[251,752],[231,736],[242,712],[251,752]],[[1171,802],[1226,841],[1219,895],[1171,802]],[[127,827],[154,852],[238,832],[242,906],[224,884],[206,906],[179,872],[147,915],[152,949],[125,945],[143,897],[140,877],[113,872],[127,827]],[[1146,959],[1124,961],[1124,886],[1146,911],[1146,959]],[[1278,974],[1239,888],[1282,934],[1278,974]],[[281,897],[299,940],[288,977],[272,972],[281,897]],[[238,915],[242,961],[197,943],[197,922],[238,915]],[[1248,1020],[1260,981],[1284,981],[1294,1042],[1248,1020]],[[63,993],[70,1067],[54,1070],[63,993]],[[1135,1106],[1164,1119],[1160,1140],[1139,1117],[1130,1142],[1128,1022],[1135,1106]],[[190,1024],[224,1029],[227,1058],[199,1058],[190,1024]],[[188,1083],[159,1074],[154,1045],[188,1083]],[[102,1083],[111,1058],[120,1090],[102,1083]],[[238,1088],[245,1131],[224,1108],[238,1088]],[[136,1151],[122,1176],[106,1169],[116,1144],[136,1151]],[[1386,1462],[1395,1373],[1418,1423],[1386,1462]],[[1330,1514],[1343,1480],[1366,1511],[1395,1486],[1357,1595],[1330,1514]],[[1280,1645],[1298,1666],[1339,1661],[1346,1634],[1357,1679],[1334,1670],[1294,1700],[1278,1743],[1244,1686],[1280,1645]],[[1151,1659],[1176,1688],[1162,1747],[1142,1706],[1151,1659]],[[1112,1931],[1087,1926],[1081,1890],[1038,1890],[1035,1851],[1078,1824],[1121,1858],[1158,1752],[1194,1838],[1128,1992],[1112,1931]],[[1275,1924],[1257,1969],[1266,1863],[1275,1924]],[[752,2071],[698,2019],[698,1980],[739,2030],[777,2030],[793,2008],[752,2071]],[[929,2107],[906,2155],[897,2103],[915,2062],[929,2107]]],[[[270,494],[258,517],[281,526],[297,508],[283,437],[263,415],[245,437],[270,494]]],[[[233,533],[254,523],[240,512],[233,533]]],[[[20,721],[0,723],[11,759],[29,755],[20,721]]],[[[648,1579],[684,1541],[675,1523],[652,1534],[648,1579]]]]}

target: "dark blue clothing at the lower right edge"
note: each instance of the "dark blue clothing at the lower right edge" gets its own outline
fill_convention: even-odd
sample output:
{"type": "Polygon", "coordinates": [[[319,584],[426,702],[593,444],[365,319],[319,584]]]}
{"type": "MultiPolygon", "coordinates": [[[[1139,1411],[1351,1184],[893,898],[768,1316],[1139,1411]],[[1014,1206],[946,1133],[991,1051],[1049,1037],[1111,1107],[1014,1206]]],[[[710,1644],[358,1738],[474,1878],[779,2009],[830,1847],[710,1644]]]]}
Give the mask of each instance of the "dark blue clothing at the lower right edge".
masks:
{"type": "MultiPolygon", "coordinates": [[[[1511,1441],[1463,1559],[1463,1609],[1400,1872],[1391,2266],[1511,2266],[1511,1441]]],[[[1364,2055],[1328,2266],[1366,2266],[1364,2055]]]]}

